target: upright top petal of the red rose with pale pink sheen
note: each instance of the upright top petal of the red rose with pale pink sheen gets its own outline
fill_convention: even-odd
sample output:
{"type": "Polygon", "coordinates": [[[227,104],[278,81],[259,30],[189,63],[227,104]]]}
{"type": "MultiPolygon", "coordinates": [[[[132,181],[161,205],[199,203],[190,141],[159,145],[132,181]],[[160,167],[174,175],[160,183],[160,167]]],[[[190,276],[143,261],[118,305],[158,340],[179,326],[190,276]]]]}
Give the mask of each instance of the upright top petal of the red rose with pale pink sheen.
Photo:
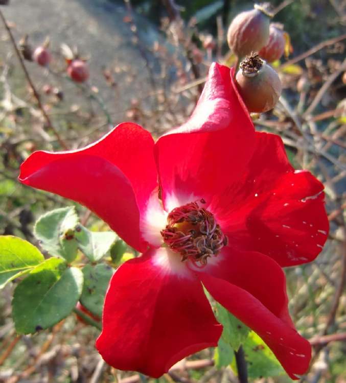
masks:
{"type": "MultiPolygon", "coordinates": [[[[231,75],[229,68],[214,63],[189,121],[156,142],[166,208],[171,196],[194,195],[208,203],[241,175],[252,155],[253,124],[231,75]]],[[[180,204],[187,202],[192,201],[180,204]]]]}

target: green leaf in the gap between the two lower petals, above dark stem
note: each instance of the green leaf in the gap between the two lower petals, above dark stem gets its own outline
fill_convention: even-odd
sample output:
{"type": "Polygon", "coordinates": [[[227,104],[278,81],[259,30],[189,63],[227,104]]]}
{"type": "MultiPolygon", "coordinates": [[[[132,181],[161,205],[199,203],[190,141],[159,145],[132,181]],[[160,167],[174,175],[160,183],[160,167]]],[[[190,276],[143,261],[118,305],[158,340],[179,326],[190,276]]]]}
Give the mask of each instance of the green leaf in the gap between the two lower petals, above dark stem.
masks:
{"type": "Polygon", "coordinates": [[[220,303],[216,303],[216,317],[223,325],[222,337],[234,350],[246,340],[249,328],[234,315],[230,314],[220,303]]]}

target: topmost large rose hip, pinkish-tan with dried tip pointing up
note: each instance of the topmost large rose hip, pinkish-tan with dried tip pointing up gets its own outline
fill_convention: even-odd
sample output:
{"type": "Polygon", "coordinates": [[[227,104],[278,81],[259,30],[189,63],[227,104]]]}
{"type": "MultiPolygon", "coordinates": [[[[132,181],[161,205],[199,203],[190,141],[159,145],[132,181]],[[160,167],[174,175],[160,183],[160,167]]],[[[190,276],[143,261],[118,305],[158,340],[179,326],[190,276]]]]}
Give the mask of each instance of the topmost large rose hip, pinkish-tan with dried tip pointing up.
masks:
{"type": "Polygon", "coordinates": [[[258,52],[269,40],[270,4],[255,4],[254,9],[237,15],[227,32],[229,48],[243,58],[258,52]]]}

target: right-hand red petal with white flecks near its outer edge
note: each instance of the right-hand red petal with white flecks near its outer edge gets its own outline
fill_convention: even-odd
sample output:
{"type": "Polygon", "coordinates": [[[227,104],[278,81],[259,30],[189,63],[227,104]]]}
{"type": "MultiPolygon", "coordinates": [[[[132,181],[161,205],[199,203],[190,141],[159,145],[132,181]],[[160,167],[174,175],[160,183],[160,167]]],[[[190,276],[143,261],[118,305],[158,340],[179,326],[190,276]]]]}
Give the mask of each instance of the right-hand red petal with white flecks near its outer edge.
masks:
{"type": "Polygon", "coordinates": [[[309,172],[294,172],[279,136],[257,132],[242,179],[210,209],[230,247],[259,251],[281,266],[299,265],[313,260],[327,240],[323,188],[309,172]]]}

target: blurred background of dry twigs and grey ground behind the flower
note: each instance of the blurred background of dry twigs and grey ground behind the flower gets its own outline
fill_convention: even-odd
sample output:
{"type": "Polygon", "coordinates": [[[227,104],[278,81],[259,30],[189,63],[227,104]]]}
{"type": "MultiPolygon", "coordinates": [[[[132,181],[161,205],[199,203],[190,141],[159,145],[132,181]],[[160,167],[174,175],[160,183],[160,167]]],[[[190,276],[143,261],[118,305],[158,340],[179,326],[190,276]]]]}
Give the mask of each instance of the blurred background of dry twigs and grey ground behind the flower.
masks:
{"type": "MultiPolygon", "coordinates": [[[[35,243],[32,227],[44,211],[71,204],[16,181],[33,151],[76,149],[123,121],[158,137],[180,125],[196,105],[212,61],[235,63],[226,33],[253,2],[240,0],[10,0],[0,23],[0,234],[35,243]],[[26,37],[27,36],[27,37],[26,37]],[[49,37],[48,67],[25,58],[49,37]],[[20,51],[23,70],[16,50],[20,51]],[[69,55],[89,76],[75,82],[69,55]]],[[[326,186],[329,240],[312,264],[286,270],[290,312],[314,349],[301,381],[346,382],[344,0],[271,2],[289,35],[290,54],[272,63],[283,83],[275,108],[256,116],[256,129],[280,134],[296,169],[326,186]]],[[[254,117],[255,118],[255,117],[254,117]]],[[[130,155],[130,153],[129,153],[130,155]]],[[[104,230],[76,205],[83,224],[104,230]]],[[[128,251],[131,251],[130,249],[128,251]]],[[[98,330],[70,316],[33,336],[16,336],[11,319],[15,282],[0,292],[0,381],[237,382],[232,366],[215,366],[214,350],[188,358],[170,374],[147,379],[106,366],[94,348],[98,330]]],[[[289,382],[262,369],[250,381],[289,382]],[[269,375],[269,376],[267,376],[269,375]]]]}

